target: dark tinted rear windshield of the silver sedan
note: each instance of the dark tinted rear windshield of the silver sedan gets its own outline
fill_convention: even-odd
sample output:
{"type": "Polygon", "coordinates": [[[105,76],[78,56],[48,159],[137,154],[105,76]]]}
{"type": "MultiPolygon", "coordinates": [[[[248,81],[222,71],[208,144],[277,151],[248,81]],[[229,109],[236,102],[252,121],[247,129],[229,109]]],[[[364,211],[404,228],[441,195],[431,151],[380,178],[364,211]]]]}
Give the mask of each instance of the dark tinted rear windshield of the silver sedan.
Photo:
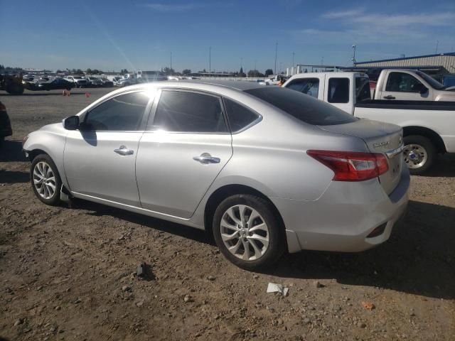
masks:
{"type": "Polygon", "coordinates": [[[331,126],[357,121],[353,115],[295,90],[282,87],[264,87],[246,90],[245,92],[308,124],[331,126]]]}

